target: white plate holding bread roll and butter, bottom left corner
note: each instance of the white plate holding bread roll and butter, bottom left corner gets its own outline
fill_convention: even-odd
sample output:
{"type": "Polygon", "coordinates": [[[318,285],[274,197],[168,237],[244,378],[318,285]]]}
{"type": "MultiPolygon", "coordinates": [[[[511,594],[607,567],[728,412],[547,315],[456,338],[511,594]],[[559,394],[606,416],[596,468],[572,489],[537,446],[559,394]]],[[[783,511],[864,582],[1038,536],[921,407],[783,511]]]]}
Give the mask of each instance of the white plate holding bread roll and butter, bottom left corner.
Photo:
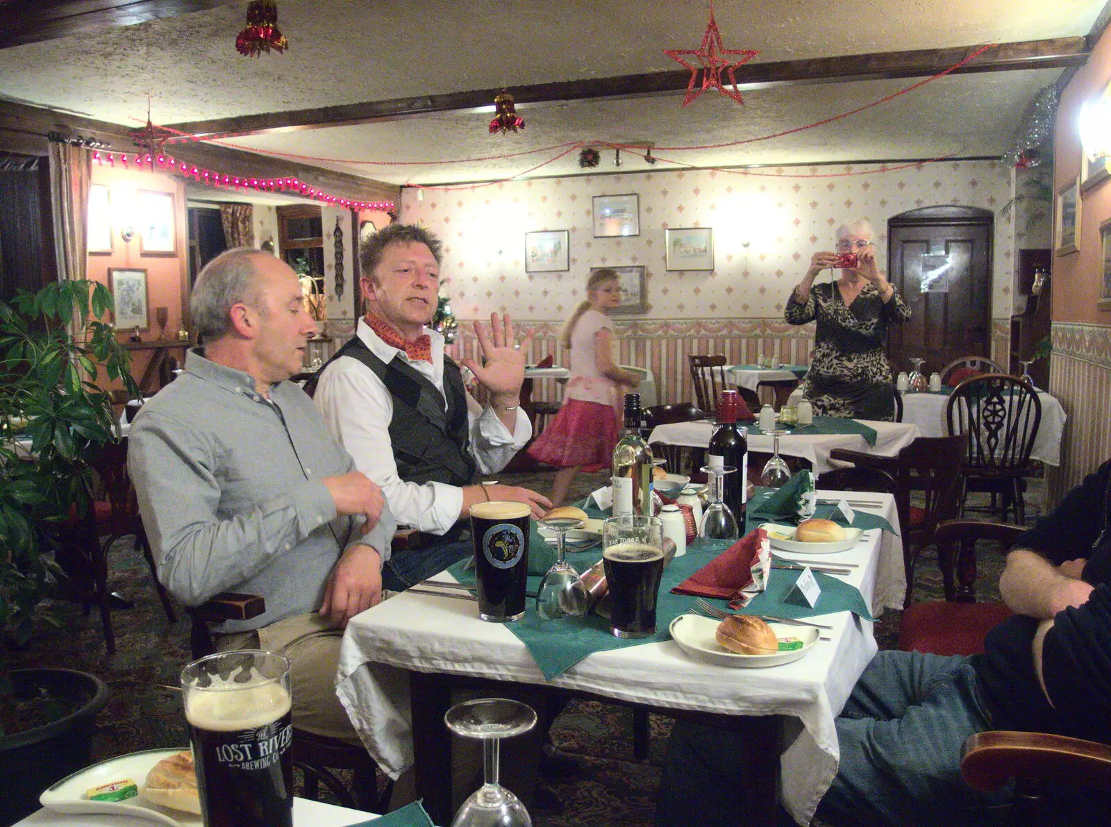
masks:
{"type": "Polygon", "coordinates": [[[56,813],[79,815],[114,813],[121,816],[148,818],[168,825],[168,827],[202,827],[200,816],[169,807],[160,807],[148,801],[142,794],[147,783],[147,774],[150,773],[151,767],[163,758],[184,749],[188,747],[147,749],[142,753],[121,755],[119,758],[93,764],[91,767],[78,770],[49,787],[39,796],[39,804],[56,813]],[[124,801],[90,801],[84,797],[91,787],[99,787],[110,781],[122,781],[126,778],[130,778],[139,785],[139,795],[134,798],[128,798],[124,801]]]}

